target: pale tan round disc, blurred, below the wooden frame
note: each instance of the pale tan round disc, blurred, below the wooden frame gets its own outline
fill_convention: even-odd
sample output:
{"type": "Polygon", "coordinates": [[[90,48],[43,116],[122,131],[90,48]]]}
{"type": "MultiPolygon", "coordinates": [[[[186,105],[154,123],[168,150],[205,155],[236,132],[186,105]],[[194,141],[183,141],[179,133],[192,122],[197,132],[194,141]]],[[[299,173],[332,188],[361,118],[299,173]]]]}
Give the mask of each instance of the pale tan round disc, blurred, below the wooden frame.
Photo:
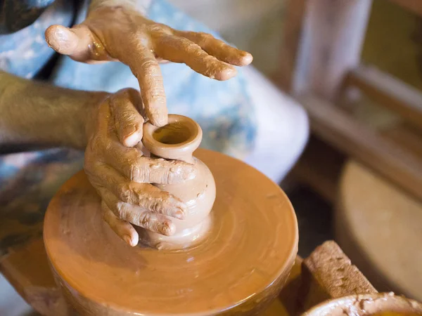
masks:
{"type": "Polygon", "coordinates": [[[354,160],[340,183],[339,244],[377,289],[421,301],[422,204],[354,160]]]}

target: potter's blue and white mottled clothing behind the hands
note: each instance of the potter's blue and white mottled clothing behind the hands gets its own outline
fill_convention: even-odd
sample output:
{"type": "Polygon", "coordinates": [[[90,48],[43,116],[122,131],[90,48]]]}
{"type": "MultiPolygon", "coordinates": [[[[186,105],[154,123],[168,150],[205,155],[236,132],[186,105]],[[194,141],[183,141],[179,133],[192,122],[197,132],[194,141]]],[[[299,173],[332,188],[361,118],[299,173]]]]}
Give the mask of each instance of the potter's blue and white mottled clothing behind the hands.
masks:
{"type": "MultiPolygon", "coordinates": [[[[0,32],[0,70],[34,78],[53,56],[44,41],[46,27],[70,26],[74,18],[75,23],[82,22],[88,1],[82,3],[77,16],[73,15],[75,6],[77,2],[56,0],[49,8],[43,8],[30,26],[12,34],[0,32]]],[[[4,12],[0,8],[1,14],[4,12]]],[[[208,32],[218,37],[165,0],[153,0],[148,17],[175,29],[208,32]]],[[[161,69],[169,112],[198,121],[203,129],[203,147],[245,157],[255,140],[255,116],[241,72],[229,81],[215,81],[186,65],[169,63],[161,69]]],[[[57,86],[89,91],[139,89],[129,67],[120,62],[87,65],[65,56],[53,66],[49,81],[57,86]]],[[[82,164],[83,153],[75,150],[52,149],[0,156],[0,232],[7,231],[10,220],[41,230],[49,200],[67,178],[82,169],[82,164]]],[[[23,239],[23,235],[0,236],[0,254],[23,239]]]]}

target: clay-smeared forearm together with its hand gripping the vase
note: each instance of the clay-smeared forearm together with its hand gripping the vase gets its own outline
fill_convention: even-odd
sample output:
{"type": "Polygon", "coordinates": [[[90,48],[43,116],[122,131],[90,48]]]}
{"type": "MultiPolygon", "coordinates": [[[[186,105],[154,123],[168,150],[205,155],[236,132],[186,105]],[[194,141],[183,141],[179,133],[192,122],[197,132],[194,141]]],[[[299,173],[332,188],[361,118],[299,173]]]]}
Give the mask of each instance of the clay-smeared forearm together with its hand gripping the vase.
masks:
{"type": "Polygon", "coordinates": [[[178,183],[196,168],[142,157],[134,148],[144,121],[138,91],[75,91],[0,72],[0,113],[0,150],[86,148],[84,167],[103,198],[103,217],[128,244],[138,243],[129,223],[172,235],[172,220],[184,218],[184,203],[148,183],[178,183]]]}

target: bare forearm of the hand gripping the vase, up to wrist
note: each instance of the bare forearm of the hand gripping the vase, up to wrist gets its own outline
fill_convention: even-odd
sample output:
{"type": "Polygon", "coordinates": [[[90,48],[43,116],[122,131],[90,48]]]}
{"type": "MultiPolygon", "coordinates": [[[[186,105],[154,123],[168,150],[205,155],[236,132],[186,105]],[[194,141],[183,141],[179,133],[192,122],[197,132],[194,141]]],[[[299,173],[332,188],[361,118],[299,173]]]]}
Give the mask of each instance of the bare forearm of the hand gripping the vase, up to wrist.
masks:
{"type": "Polygon", "coordinates": [[[83,149],[92,107],[106,93],[74,91],[0,72],[0,146],[83,149]]]}

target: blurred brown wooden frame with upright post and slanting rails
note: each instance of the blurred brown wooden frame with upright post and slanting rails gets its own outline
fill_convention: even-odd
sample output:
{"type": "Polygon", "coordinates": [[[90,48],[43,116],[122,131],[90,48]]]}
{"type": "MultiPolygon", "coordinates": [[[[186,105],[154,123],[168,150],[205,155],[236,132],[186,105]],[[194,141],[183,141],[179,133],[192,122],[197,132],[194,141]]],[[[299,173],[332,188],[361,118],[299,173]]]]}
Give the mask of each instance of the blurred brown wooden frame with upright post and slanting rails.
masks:
{"type": "MultiPolygon", "coordinates": [[[[289,0],[277,81],[307,109],[316,137],[422,200],[421,157],[336,105],[343,91],[358,88],[409,124],[422,128],[422,93],[374,67],[360,65],[371,2],[289,0]]],[[[418,1],[395,2],[422,11],[418,1]]],[[[309,159],[312,161],[305,155],[305,160],[309,159]]],[[[310,178],[318,178],[318,169],[325,168],[314,164],[314,173],[307,175],[309,182],[317,182],[310,178]]]]}

